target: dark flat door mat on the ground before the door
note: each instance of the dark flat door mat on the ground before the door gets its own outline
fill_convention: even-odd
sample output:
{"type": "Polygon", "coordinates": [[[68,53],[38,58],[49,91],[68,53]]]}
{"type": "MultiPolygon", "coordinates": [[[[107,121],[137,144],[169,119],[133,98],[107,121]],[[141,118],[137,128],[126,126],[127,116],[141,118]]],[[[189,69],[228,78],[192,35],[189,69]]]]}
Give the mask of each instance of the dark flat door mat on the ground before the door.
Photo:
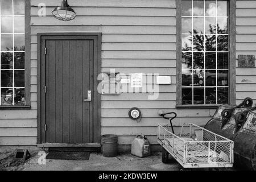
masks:
{"type": "Polygon", "coordinates": [[[90,152],[56,152],[50,151],[46,159],[56,160],[89,160],[90,152]]]}

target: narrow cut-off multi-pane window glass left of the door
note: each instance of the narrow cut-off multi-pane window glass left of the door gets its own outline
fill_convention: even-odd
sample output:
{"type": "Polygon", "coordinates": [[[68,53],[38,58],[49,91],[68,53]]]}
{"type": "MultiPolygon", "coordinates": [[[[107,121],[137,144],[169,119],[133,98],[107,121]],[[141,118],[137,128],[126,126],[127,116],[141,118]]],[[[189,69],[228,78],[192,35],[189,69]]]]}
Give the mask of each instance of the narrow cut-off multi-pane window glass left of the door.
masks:
{"type": "Polygon", "coordinates": [[[24,0],[0,0],[0,105],[24,105],[24,0]]]}

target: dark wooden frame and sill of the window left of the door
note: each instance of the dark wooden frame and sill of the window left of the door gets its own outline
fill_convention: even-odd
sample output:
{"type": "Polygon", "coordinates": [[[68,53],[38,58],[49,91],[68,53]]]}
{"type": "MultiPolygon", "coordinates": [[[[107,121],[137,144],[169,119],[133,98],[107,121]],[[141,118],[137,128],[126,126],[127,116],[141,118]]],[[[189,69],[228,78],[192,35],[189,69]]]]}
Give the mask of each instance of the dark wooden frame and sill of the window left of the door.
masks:
{"type": "Polygon", "coordinates": [[[30,16],[30,0],[24,0],[24,19],[25,19],[25,57],[24,57],[24,81],[25,81],[25,105],[24,106],[4,106],[4,105],[0,105],[0,110],[20,110],[20,109],[31,109],[31,100],[30,100],[30,88],[31,88],[31,83],[30,83],[30,72],[31,72],[31,25],[30,25],[30,20],[31,20],[31,16],[30,16]]]}

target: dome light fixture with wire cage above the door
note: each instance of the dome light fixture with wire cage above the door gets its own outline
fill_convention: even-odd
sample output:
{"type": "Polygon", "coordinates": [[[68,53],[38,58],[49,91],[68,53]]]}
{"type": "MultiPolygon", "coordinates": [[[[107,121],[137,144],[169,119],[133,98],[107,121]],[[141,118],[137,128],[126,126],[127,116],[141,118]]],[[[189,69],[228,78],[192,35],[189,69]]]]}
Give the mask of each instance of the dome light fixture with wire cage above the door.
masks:
{"type": "Polygon", "coordinates": [[[68,1],[63,0],[61,6],[55,7],[52,11],[52,15],[59,20],[69,21],[76,18],[76,12],[69,7],[68,1]]]}

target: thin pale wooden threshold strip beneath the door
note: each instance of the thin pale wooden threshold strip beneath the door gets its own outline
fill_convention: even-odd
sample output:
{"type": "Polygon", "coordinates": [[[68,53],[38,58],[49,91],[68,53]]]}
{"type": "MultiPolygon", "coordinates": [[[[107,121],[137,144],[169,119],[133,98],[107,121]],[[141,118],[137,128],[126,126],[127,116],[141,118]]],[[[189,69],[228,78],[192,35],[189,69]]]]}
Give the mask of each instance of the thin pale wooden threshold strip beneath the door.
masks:
{"type": "Polygon", "coordinates": [[[100,143],[41,143],[38,147],[101,147],[100,143]]]}

